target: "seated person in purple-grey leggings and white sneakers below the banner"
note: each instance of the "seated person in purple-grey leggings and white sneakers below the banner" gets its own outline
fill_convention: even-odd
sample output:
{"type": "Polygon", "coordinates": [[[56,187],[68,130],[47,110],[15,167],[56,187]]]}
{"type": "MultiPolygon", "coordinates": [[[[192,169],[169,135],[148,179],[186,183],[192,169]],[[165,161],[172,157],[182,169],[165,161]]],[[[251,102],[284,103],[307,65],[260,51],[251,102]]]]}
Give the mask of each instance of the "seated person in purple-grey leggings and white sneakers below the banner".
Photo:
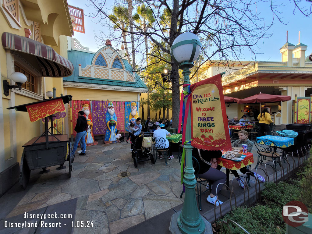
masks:
{"type": "MultiPolygon", "coordinates": [[[[197,159],[199,163],[200,170],[198,171],[198,167],[195,167],[195,174],[197,174],[197,177],[199,178],[205,178],[210,180],[210,182],[213,182],[211,193],[208,195],[207,202],[214,204],[217,200],[217,186],[219,183],[225,183],[227,179],[227,175],[223,173],[222,171],[219,171],[215,168],[211,167],[211,160],[212,162],[217,162],[216,158],[220,158],[222,156],[222,153],[220,150],[203,150],[203,149],[197,149],[193,148],[192,155],[194,158],[197,159]]],[[[206,187],[207,188],[207,187],[206,187]]],[[[221,190],[222,186],[220,185],[218,187],[218,192],[221,190]]],[[[222,204],[220,200],[216,202],[216,206],[222,204]]]]}

